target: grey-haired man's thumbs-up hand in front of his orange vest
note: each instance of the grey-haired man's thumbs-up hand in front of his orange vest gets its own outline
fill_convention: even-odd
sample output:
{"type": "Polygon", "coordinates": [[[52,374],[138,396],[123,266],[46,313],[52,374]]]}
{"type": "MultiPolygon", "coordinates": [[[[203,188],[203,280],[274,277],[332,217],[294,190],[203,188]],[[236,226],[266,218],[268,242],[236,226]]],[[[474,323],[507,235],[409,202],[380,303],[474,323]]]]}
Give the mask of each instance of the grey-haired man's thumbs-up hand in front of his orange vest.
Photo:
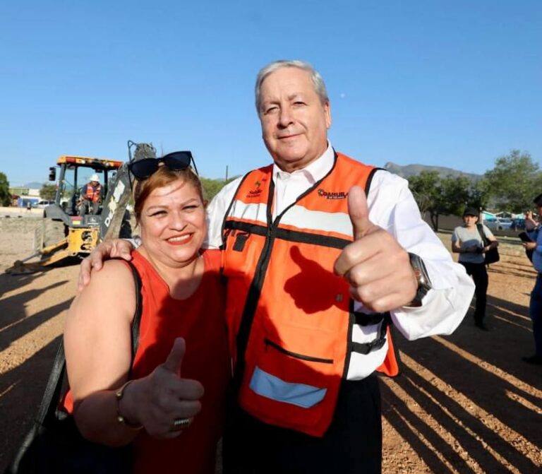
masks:
{"type": "Polygon", "coordinates": [[[335,273],[350,285],[354,300],[375,312],[387,312],[414,300],[418,283],[409,254],[392,235],[369,219],[363,189],[352,186],[348,211],[354,242],[342,249],[335,273]]]}

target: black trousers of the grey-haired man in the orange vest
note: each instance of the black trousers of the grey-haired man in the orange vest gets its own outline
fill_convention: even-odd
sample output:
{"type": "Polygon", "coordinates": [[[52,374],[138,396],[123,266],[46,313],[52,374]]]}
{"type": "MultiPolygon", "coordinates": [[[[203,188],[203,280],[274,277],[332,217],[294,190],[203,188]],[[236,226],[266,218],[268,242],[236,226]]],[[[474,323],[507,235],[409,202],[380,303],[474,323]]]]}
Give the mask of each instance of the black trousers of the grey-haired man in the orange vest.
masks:
{"type": "Polygon", "coordinates": [[[373,374],[343,381],[324,437],[267,425],[229,403],[224,474],[379,474],[382,468],[380,389],[373,374]]]}

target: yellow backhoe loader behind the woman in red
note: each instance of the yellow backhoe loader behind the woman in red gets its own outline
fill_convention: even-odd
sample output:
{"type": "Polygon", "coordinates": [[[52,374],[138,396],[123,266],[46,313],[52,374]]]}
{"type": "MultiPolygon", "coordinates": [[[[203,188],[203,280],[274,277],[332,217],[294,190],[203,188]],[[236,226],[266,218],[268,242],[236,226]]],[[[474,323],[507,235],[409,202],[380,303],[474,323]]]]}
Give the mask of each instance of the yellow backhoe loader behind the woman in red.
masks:
{"type": "MultiPolygon", "coordinates": [[[[155,158],[156,150],[150,143],[128,141],[130,161],[155,158]]],[[[131,237],[131,184],[128,163],[63,155],[56,167],[49,168],[49,181],[56,181],[54,203],[44,208],[44,215],[36,227],[34,253],[16,261],[6,273],[20,274],[40,271],[56,263],[84,257],[100,242],[116,237],[131,237]],[[92,181],[100,183],[100,199],[95,209],[81,190],[92,181]],[[95,211],[95,213],[93,213],[95,211]]]]}

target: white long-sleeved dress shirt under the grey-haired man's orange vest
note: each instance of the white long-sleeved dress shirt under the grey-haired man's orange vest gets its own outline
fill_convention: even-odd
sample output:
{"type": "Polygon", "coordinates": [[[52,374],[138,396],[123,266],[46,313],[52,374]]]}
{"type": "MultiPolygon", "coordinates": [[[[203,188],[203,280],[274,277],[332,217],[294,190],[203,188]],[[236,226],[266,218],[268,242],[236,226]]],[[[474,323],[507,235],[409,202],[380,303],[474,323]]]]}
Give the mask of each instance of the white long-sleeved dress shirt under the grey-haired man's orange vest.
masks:
{"type": "MultiPolygon", "coordinates": [[[[273,217],[294,203],[315,182],[330,172],[335,153],[328,143],[325,153],[303,170],[288,173],[273,166],[275,182],[275,206],[273,217]]],[[[235,179],[215,196],[207,208],[209,219],[208,247],[217,248],[222,244],[222,222],[229,203],[242,178],[235,179]]],[[[406,249],[421,256],[426,264],[433,289],[423,298],[421,307],[400,307],[391,312],[394,326],[409,340],[434,334],[450,334],[462,321],[474,295],[474,283],[459,263],[452,261],[433,230],[422,220],[418,206],[412,196],[408,182],[385,170],[378,170],[373,176],[367,196],[369,219],[375,225],[389,232],[406,249]]],[[[363,309],[356,302],[354,309],[363,309]]],[[[380,324],[373,326],[354,325],[354,342],[366,343],[378,335],[380,324]]],[[[368,355],[353,352],[347,378],[363,379],[371,374],[384,360],[387,342],[380,350],[368,355]]]]}

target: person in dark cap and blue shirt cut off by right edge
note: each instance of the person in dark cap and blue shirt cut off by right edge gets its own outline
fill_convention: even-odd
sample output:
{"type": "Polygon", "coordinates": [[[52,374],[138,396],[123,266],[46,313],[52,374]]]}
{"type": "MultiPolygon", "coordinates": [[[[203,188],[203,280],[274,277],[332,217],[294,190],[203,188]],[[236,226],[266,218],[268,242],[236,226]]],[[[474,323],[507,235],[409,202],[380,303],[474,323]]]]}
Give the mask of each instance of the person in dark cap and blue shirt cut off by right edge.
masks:
{"type": "MultiPolygon", "coordinates": [[[[533,202],[538,215],[542,215],[542,194],[536,196],[533,202]]],[[[532,252],[532,263],[538,272],[529,302],[529,316],[533,323],[534,355],[522,357],[522,360],[529,364],[542,365],[542,232],[538,232],[538,228],[533,227],[529,236],[534,239],[534,242],[523,242],[523,246],[525,251],[532,252]]]]}

